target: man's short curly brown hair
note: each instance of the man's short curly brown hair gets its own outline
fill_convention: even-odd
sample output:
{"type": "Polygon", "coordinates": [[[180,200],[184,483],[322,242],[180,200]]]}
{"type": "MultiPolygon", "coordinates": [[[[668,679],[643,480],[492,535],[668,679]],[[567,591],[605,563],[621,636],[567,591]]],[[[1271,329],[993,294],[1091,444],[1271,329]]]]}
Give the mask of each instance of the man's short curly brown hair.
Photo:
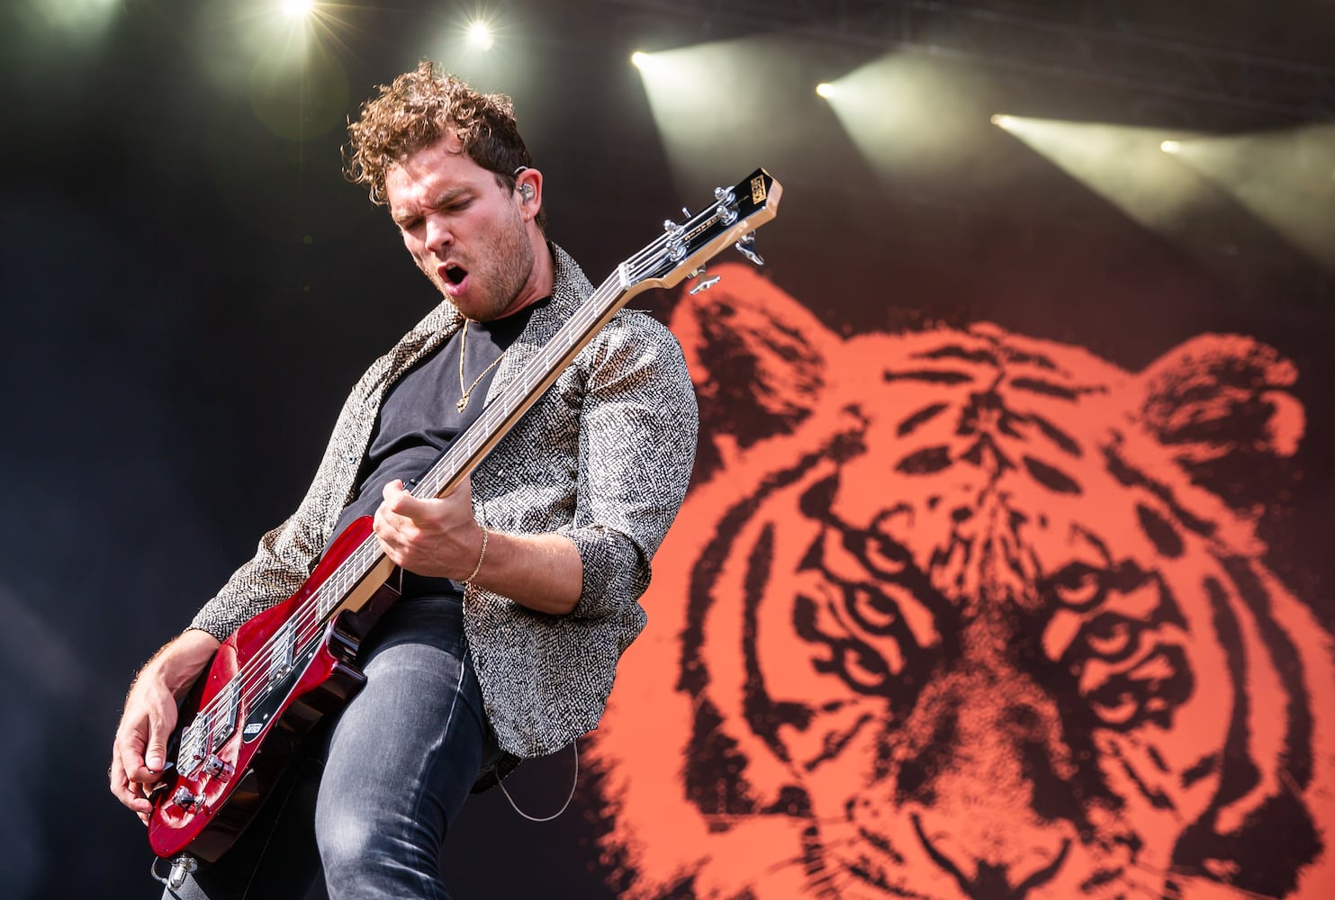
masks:
{"type": "MultiPolygon", "coordinates": [[[[438,73],[427,60],[378,89],[362,104],[358,120],[348,123],[351,140],[343,148],[343,175],[366,186],[372,203],[388,204],[384,172],[392,164],[450,134],[474,163],[495,174],[502,188],[514,190],[518,170],[533,166],[514,103],[503,93],[479,93],[454,75],[438,73]]],[[[538,226],[546,226],[545,211],[538,212],[538,226]]]]}

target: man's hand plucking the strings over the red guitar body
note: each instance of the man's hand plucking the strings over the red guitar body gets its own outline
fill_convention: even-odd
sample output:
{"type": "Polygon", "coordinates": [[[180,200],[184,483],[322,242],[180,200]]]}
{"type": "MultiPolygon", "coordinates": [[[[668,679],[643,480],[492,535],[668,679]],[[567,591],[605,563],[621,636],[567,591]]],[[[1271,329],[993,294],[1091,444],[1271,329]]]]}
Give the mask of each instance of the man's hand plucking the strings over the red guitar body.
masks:
{"type": "Polygon", "coordinates": [[[129,685],[111,745],[111,793],[148,823],[148,795],[167,765],[167,738],[176,726],[176,701],[214,658],[219,641],[191,629],[159,650],[129,685]]]}

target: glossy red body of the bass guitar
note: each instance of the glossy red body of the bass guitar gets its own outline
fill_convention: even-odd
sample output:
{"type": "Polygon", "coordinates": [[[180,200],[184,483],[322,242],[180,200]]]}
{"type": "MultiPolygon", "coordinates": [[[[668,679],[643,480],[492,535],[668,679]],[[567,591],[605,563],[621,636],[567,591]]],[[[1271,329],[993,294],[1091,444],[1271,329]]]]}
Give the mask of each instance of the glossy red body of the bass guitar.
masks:
{"type": "Polygon", "coordinates": [[[352,522],[296,593],[248,620],[214,654],[182,706],[175,766],[154,792],[148,843],[158,856],[222,856],[259,812],[300,740],[366,682],[351,661],[398,598],[383,577],[379,586],[366,585],[359,610],[343,609],[314,637],[298,640],[290,665],[274,660],[287,634],[302,634],[291,625],[312,594],[370,533],[370,518],[352,522]],[[254,674],[239,678],[247,669],[254,674]],[[191,728],[200,730],[187,737],[191,728]]]}

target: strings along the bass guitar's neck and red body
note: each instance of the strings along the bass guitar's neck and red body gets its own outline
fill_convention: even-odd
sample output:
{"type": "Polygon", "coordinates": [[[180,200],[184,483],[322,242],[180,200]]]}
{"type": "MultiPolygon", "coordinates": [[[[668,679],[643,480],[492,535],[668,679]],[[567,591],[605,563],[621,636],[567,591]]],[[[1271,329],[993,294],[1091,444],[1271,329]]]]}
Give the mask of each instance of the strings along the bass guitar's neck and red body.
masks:
{"type": "MultiPolygon", "coordinates": [[[[718,207],[717,206],[709,207],[706,211],[697,214],[690,220],[688,220],[685,224],[680,226],[678,228],[674,228],[670,232],[665,231],[662,235],[659,235],[653,242],[650,242],[646,247],[643,247],[637,254],[633,254],[630,258],[627,258],[627,260],[625,263],[622,263],[621,267],[618,267],[617,272],[614,272],[613,276],[610,276],[607,280],[605,280],[593,294],[590,294],[589,300],[586,300],[583,304],[581,304],[574,311],[574,314],[571,315],[571,318],[569,319],[569,322],[565,326],[562,326],[561,330],[558,330],[558,335],[562,331],[570,330],[571,334],[583,336],[583,334],[587,330],[591,330],[590,326],[594,322],[597,322],[599,318],[607,315],[609,310],[603,308],[603,304],[605,304],[605,302],[614,300],[615,296],[618,295],[618,292],[619,292],[619,290],[622,287],[621,278],[618,278],[621,275],[622,268],[625,268],[626,272],[627,272],[627,282],[629,283],[637,283],[637,282],[642,280],[645,278],[646,271],[647,271],[646,267],[651,268],[651,266],[649,263],[651,262],[653,266],[659,264],[662,262],[661,260],[662,251],[669,244],[672,244],[674,240],[680,240],[681,238],[684,238],[692,230],[701,228],[701,227],[708,227],[709,224],[713,224],[713,222],[717,219],[717,214],[718,214],[718,207]],[[697,219],[700,219],[701,222],[697,222],[697,219]],[[645,270],[645,271],[641,271],[641,270],[645,270]],[[615,284],[613,284],[614,280],[617,282],[615,284]],[[599,296],[605,291],[606,291],[607,296],[599,296]],[[575,323],[578,323],[578,324],[575,324],[575,323]],[[575,327],[571,327],[571,326],[575,326],[575,327]]],[[[670,254],[669,254],[669,256],[670,256],[670,254]]],[[[680,264],[674,266],[674,268],[677,268],[677,267],[680,267],[680,264]]],[[[563,341],[553,341],[549,345],[543,346],[538,351],[534,363],[531,366],[526,367],[526,370],[525,370],[525,373],[527,373],[527,371],[539,371],[542,374],[538,378],[535,378],[535,379],[526,379],[526,378],[523,378],[525,373],[521,373],[521,377],[518,379],[515,379],[514,382],[511,382],[510,386],[507,386],[507,389],[505,389],[502,391],[501,397],[498,397],[497,403],[489,405],[487,409],[485,409],[483,413],[482,413],[482,415],[479,415],[478,418],[479,419],[497,418],[497,419],[503,421],[505,415],[499,414],[499,410],[501,409],[506,409],[509,406],[509,403],[505,402],[506,397],[509,394],[517,393],[515,390],[511,390],[511,389],[517,389],[517,387],[522,389],[522,393],[521,393],[521,397],[518,398],[518,401],[525,399],[529,395],[529,393],[533,390],[533,387],[535,387],[537,383],[539,383],[549,374],[551,363],[555,362],[555,359],[551,359],[551,357],[555,357],[557,359],[559,359],[559,357],[565,355],[574,346],[574,343],[577,343],[577,342],[578,341],[569,342],[569,343],[563,342],[563,341]],[[553,350],[553,347],[555,345],[562,345],[562,346],[559,346],[558,349],[553,350]],[[541,363],[546,363],[546,365],[539,366],[538,365],[539,362],[541,363]],[[534,383],[533,385],[527,385],[527,382],[530,382],[530,381],[533,381],[534,383]],[[497,414],[489,417],[489,413],[491,413],[493,410],[495,410],[497,414]]],[[[499,422],[497,422],[495,425],[499,425],[499,422]]],[[[474,430],[475,429],[469,429],[469,431],[474,431],[474,430]]],[[[483,427],[483,429],[479,429],[479,431],[483,431],[483,433],[486,433],[490,437],[493,429],[491,427],[483,427]]],[[[465,438],[466,437],[467,437],[467,434],[465,435],[465,438]]],[[[450,454],[450,453],[447,453],[446,457],[442,457],[442,459],[438,461],[437,465],[433,466],[429,470],[427,477],[423,478],[423,482],[421,485],[418,485],[418,487],[414,489],[414,495],[417,495],[415,491],[419,490],[419,489],[423,490],[423,494],[427,491],[429,486],[427,486],[426,482],[429,481],[429,478],[433,474],[438,473],[442,467],[445,467],[445,465],[449,462],[449,458],[451,455],[465,455],[465,457],[471,455],[477,450],[477,446],[481,446],[481,443],[483,443],[483,442],[485,442],[485,438],[483,438],[483,441],[477,442],[474,446],[469,447],[467,451],[463,453],[463,454],[450,454]]],[[[459,447],[462,445],[457,443],[454,446],[459,447]]],[[[458,465],[450,466],[450,469],[451,469],[451,473],[454,473],[454,471],[458,471],[459,466],[458,465]]],[[[453,474],[450,477],[453,477],[453,474]]],[[[446,478],[445,481],[449,481],[449,478],[446,478]]],[[[443,483],[443,482],[441,482],[441,483],[443,483]]],[[[435,489],[431,489],[431,490],[434,493],[435,489]]],[[[218,721],[215,721],[215,718],[216,718],[215,713],[219,712],[219,709],[220,709],[224,698],[227,698],[228,694],[235,693],[235,698],[227,700],[227,708],[228,708],[228,710],[231,710],[232,708],[235,708],[239,712],[242,706],[248,706],[255,698],[258,698],[262,693],[264,693],[266,690],[268,690],[272,686],[274,682],[272,682],[272,678],[270,677],[270,673],[272,670],[272,662],[275,661],[275,658],[274,658],[274,650],[276,649],[276,642],[278,642],[279,637],[284,632],[288,632],[288,633],[292,634],[292,642],[295,645],[292,649],[304,649],[306,645],[319,634],[319,630],[320,630],[320,628],[323,626],[323,624],[324,624],[324,621],[327,618],[327,613],[332,612],[332,609],[334,609],[334,606],[330,606],[328,610],[322,612],[320,608],[324,605],[324,592],[327,589],[330,589],[330,588],[339,588],[340,590],[339,590],[338,597],[343,597],[346,594],[347,589],[351,589],[352,586],[355,586],[362,578],[364,578],[366,573],[370,572],[370,569],[375,568],[375,565],[379,562],[379,557],[383,555],[383,554],[380,554],[378,551],[375,551],[375,553],[370,553],[368,551],[370,546],[374,543],[372,537],[364,538],[362,541],[362,543],[358,545],[356,549],[354,549],[342,562],[339,562],[338,566],[335,566],[334,572],[331,572],[330,576],[323,582],[320,582],[319,586],[316,586],[311,592],[310,597],[307,597],[298,606],[298,609],[295,610],[295,613],[291,617],[288,617],[288,620],[283,624],[283,626],[280,626],[279,629],[276,629],[274,632],[274,634],[271,634],[268,637],[268,640],[266,640],[266,642],[262,644],[260,648],[255,653],[252,653],[251,657],[247,658],[247,661],[243,662],[238,668],[238,672],[234,673],[231,678],[228,678],[227,685],[230,686],[230,685],[235,684],[235,682],[238,682],[238,680],[239,680],[240,681],[239,688],[235,689],[235,690],[232,690],[232,689],[228,688],[228,689],[226,689],[223,692],[219,692],[218,694],[214,696],[212,700],[210,700],[208,704],[206,704],[196,713],[196,720],[195,721],[198,721],[199,716],[204,716],[204,724],[207,724],[207,732],[208,732],[207,733],[207,738],[208,740],[206,741],[206,744],[208,745],[208,750],[210,752],[212,752],[212,749],[215,749],[212,745],[216,741],[218,734],[222,730],[226,730],[226,729],[231,729],[232,732],[235,732],[235,728],[236,728],[236,724],[238,724],[235,721],[235,717],[232,717],[232,721],[230,721],[230,722],[218,722],[218,721]],[[370,559],[367,559],[366,557],[370,557],[370,559]],[[358,565],[358,566],[350,565],[352,562],[364,564],[364,568],[362,565],[358,565]],[[354,569],[356,570],[355,574],[352,574],[354,569]],[[350,578],[350,574],[352,576],[351,578],[350,578]],[[292,624],[292,626],[290,629],[287,628],[288,624],[292,624]],[[220,725],[220,728],[219,728],[219,725],[220,725]]],[[[287,649],[284,648],[284,654],[286,653],[287,653],[287,649]]],[[[192,730],[192,728],[194,728],[194,722],[191,724],[191,726],[187,728],[187,734],[190,734],[190,732],[192,730]]],[[[228,733],[228,736],[230,736],[230,733],[228,733]]],[[[194,736],[191,736],[191,737],[194,737],[194,736]]],[[[203,736],[200,736],[200,737],[203,737],[203,736]]]]}

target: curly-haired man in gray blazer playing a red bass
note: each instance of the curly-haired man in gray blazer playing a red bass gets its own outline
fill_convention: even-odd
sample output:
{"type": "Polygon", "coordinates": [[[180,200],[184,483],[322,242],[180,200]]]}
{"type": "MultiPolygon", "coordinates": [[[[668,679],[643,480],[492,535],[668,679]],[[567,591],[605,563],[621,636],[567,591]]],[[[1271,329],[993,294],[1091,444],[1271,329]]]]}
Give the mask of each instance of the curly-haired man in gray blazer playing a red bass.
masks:
{"type": "Polygon", "coordinates": [[[348,178],[388,207],[445,300],[354,387],[292,517],[139,672],[112,793],[151,820],[178,701],[220,642],[292,596],[359,517],[372,517],[402,596],[360,644],[364,686],[174,896],[299,897],[322,873],[334,900],[449,896],[439,851],[483,773],[597,725],[692,471],[681,349],[621,310],[471,478],[441,497],[411,493],[593,288],[546,239],[543,176],[507,97],[423,63],[363,104],[350,135],[348,178]]]}

